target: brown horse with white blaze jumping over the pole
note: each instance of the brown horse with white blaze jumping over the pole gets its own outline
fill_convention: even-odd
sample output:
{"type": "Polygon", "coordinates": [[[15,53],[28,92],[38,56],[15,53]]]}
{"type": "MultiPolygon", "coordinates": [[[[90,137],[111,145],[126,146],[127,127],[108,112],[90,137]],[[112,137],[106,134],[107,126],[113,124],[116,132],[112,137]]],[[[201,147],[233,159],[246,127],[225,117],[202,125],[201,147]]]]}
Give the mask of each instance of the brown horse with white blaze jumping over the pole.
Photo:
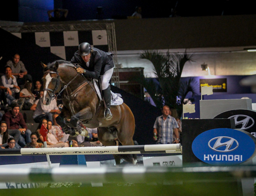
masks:
{"type": "MultiPolygon", "coordinates": [[[[63,107],[56,122],[66,134],[71,136],[86,135],[82,125],[97,128],[98,139],[104,146],[134,145],[134,115],[125,103],[111,105],[111,120],[104,119],[104,104],[97,95],[93,80],[77,73],[75,64],[56,60],[44,68],[42,77],[44,95],[42,103],[50,104],[51,100],[60,95],[63,107]]],[[[87,131],[86,131],[87,132],[87,131]]],[[[136,155],[113,155],[116,165],[121,159],[137,164],[136,155]]]]}

